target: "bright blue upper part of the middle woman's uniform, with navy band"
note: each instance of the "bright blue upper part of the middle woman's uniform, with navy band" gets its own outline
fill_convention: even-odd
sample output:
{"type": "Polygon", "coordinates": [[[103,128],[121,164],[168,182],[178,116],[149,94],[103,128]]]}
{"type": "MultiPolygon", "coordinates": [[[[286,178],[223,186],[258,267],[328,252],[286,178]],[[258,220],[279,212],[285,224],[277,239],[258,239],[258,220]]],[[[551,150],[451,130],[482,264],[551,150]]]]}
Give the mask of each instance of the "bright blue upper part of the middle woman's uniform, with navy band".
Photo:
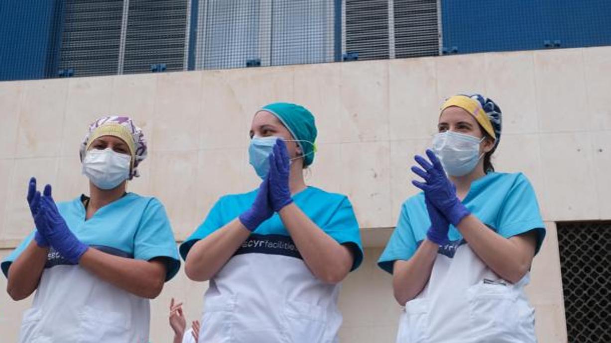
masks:
{"type": "MultiPolygon", "coordinates": [[[[186,259],[189,250],[198,240],[204,239],[249,209],[256,196],[257,190],[253,190],[249,193],[221,197],[202,225],[180,245],[180,255],[183,259],[186,259]]],[[[316,187],[307,187],[293,195],[293,201],[312,222],[323,229],[324,233],[353,252],[354,262],[351,270],[357,269],[363,260],[363,247],[360,242],[359,224],[348,197],[327,193],[316,187]]],[[[301,257],[277,213],[253,231],[251,239],[236,252],[236,255],[243,253],[301,257]],[[256,239],[252,240],[253,237],[256,239]]]]}

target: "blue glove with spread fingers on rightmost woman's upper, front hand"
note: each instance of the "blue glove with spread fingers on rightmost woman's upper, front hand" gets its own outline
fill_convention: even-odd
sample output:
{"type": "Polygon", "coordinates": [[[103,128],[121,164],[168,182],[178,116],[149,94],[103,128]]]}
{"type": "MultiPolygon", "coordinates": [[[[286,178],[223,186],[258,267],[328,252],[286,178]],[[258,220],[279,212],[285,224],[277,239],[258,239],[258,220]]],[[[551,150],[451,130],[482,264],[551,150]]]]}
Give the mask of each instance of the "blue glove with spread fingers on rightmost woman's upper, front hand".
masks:
{"type": "Polygon", "coordinates": [[[445,215],[445,218],[454,226],[467,215],[469,210],[464,207],[463,203],[456,197],[456,186],[445,175],[444,167],[437,159],[433,151],[427,149],[426,156],[431,160],[432,164],[422,156],[416,155],[415,161],[420,164],[424,170],[417,166],[412,167],[412,171],[423,178],[425,182],[412,181],[414,186],[422,189],[431,203],[445,215]]]}

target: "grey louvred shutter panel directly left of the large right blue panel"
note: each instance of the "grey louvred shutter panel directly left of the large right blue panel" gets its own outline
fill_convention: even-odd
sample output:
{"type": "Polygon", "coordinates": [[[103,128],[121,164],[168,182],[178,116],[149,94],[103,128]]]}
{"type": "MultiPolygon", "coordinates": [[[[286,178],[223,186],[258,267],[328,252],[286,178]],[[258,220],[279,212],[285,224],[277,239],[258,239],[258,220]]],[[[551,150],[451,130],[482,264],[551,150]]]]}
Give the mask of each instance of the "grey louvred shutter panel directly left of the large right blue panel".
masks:
{"type": "Polygon", "coordinates": [[[439,54],[437,0],[395,1],[395,57],[439,54]]]}

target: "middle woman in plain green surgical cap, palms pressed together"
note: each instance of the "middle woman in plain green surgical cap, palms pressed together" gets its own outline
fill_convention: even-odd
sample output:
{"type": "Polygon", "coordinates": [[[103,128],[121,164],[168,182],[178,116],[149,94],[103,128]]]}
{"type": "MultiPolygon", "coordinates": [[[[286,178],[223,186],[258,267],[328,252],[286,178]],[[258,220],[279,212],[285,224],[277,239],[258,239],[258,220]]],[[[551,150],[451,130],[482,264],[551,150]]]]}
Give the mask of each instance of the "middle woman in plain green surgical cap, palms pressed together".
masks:
{"type": "Polygon", "coordinates": [[[221,197],[180,246],[191,280],[210,280],[199,342],[337,342],[340,282],[362,261],[345,195],[307,186],[314,117],[274,103],[252,120],[257,190],[221,197]]]}

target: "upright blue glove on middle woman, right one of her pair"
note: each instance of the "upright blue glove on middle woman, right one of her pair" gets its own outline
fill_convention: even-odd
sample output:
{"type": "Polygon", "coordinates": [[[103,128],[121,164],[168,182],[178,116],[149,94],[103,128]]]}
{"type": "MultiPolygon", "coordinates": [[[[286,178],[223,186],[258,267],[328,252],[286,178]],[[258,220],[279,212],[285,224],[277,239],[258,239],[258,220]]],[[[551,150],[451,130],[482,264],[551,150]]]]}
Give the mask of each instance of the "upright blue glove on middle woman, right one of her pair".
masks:
{"type": "Polygon", "coordinates": [[[276,212],[293,202],[288,187],[290,169],[287,145],[279,139],[274,145],[274,153],[269,157],[269,201],[276,212]]]}

